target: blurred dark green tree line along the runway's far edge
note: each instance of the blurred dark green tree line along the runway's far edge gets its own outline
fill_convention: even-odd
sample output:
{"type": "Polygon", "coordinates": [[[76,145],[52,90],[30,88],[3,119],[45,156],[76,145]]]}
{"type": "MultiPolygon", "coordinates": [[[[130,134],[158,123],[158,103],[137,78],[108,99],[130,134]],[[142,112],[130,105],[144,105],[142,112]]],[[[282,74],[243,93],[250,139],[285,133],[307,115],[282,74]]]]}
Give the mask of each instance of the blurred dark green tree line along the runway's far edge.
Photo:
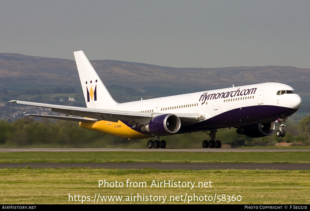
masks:
{"type": "MultiPolygon", "coordinates": [[[[310,145],[310,115],[300,120],[298,125],[288,126],[286,129],[285,137],[277,137],[275,133],[258,139],[251,139],[245,135],[236,135],[221,141],[232,147],[251,146],[257,141],[269,143],[303,142],[305,146],[310,145]]],[[[197,146],[201,145],[200,136],[205,136],[205,134],[192,134],[192,138],[198,140],[197,146]]],[[[171,147],[188,147],[188,138],[190,137],[181,134],[162,138],[170,142],[171,147]]],[[[53,147],[85,148],[94,147],[94,144],[97,143],[95,147],[131,146],[132,144],[135,144],[136,147],[145,147],[145,140],[127,140],[109,135],[102,138],[101,133],[83,129],[77,122],[73,121],[53,121],[46,118],[37,121],[29,116],[24,116],[14,122],[10,120],[0,121],[0,147],[51,145],[53,147]]]]}

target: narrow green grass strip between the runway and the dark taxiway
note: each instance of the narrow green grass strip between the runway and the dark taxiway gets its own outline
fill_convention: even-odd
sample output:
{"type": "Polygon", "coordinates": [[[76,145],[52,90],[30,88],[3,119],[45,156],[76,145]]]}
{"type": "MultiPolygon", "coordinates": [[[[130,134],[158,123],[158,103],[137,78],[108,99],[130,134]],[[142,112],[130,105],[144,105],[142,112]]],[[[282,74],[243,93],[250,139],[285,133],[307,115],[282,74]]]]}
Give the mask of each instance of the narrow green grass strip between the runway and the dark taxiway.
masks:
{"type": "Polygon", "coordinates": [[[255,162],[310,163],[309,152],[21,152],[0,162],[255,162]]]}

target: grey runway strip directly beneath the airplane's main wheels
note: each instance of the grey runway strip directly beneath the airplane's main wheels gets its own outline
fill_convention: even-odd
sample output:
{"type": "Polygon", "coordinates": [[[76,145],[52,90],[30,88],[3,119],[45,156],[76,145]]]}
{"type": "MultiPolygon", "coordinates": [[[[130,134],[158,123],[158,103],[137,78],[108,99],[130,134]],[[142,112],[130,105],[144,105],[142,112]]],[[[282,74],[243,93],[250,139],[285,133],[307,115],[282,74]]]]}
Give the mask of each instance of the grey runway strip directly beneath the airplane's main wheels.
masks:
{"type": "Polygon", "coordinates": [[[225,149],[225,148],[187,148],[187,149],[107,149],[107,148],[2,148],[0,152],[310,152],[310,149],[225,149]]]}

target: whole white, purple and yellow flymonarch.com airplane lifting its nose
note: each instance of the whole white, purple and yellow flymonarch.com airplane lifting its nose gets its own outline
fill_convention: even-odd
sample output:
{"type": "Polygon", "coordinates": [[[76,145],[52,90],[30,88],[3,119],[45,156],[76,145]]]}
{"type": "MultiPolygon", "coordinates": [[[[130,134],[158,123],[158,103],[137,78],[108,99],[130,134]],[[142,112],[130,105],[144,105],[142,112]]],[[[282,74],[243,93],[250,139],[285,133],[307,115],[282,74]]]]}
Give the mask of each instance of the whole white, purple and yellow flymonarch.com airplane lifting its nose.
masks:
{"type": "Polygon", "coordinates": [[[85,54],[77,51],[74,57],[87,108],[18,100],[9,102],[51,108],[51,111],[65,114],[28,116],[78,121],[81,127],[103,135],[150,138],[148,148],[165,148],[166,141],[160,141],[161,136],[197,131],[210,136],[209,141],[202,142],[204,148],[220,148],[221,142],[215,141],[219,128],[234,127],[238,134],[264,137],[274,132],[275,122],[280,123],[277,136],[284,137],[282,127],[288,121],[287,117],[301,106],[301,98],[292,87],[273,82],[117,103],[85,54]]]}

